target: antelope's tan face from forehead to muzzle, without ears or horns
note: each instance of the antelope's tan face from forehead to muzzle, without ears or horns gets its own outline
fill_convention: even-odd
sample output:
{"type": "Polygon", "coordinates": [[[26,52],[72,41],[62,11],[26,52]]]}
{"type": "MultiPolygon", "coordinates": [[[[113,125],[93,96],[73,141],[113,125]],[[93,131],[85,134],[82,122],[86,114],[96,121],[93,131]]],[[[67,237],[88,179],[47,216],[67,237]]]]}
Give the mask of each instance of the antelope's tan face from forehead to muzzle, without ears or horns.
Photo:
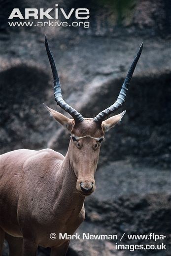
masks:
{"type": "Polygon", "coordinates": [[[95,191],[97,169],[104,131],[93,119],[85,119],[71,130],[69,160],[77,177],[76,189],[83,195],[95,191]]]}

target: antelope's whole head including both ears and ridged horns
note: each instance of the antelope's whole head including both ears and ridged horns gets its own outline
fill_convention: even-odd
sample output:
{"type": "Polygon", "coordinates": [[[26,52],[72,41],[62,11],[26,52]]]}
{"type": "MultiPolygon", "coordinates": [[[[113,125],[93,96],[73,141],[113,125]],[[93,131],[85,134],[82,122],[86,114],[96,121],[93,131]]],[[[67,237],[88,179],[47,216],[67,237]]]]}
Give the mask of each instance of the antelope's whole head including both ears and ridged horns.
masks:
{"type": "Polygon", "coordinates": [[[108,119],[105,118],[123,105],[130,80],[141,55],[143,43],[139,48],[136,58],[131,64],[117,100],[110,107],[99,113],[95,118],[83,118],[80,113],[64,101],[56,65],[49,49],[46,36],[45,47],[54,78],[55,101],[62,109],[72,116],[72,119],[47,107],[44,103],[43,104],[54,119],[70,131],[71,135],[68,153],[70,165],[77,177],[76,189],[83,195],[89,195],[94,192],[96,188],[94,174],[97,169],[104,133],[121,121],[126,111],[108,119]]]}

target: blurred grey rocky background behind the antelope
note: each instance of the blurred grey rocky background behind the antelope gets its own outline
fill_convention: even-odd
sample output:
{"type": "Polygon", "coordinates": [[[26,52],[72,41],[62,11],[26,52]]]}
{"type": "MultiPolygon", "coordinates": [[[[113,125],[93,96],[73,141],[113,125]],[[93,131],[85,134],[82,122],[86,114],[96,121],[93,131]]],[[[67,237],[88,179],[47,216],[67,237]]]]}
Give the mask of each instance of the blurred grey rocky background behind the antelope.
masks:
{"type": "MultiPolygon", "coordinates": [[[[75,21],[73,17],[69,22],[75,21]]],[[[68,131],[42,106],[44,102],[64,113],[54,101],[44,34],[58,67],[63,97],[84,117],[95,117],[113,104],[144,42],[119,111],[127,113],[105,135],[97,189],[86,198],[86,220],[78,232],[167,236],[166,251],[116,251],[112,241],[75,240],[68,256],[171,255],[171,1],[1,0],[1,154],[47,147],[67,152],[68,131]],[[25,8],[55,8],[55,3],[66,13],[88,8],[90,27],[8,25],[13,8],[24,13],[25,8]]],[[[124,243],[133,241],[124,238],[124,243]]],[[[4,256],[7,251],[5,244],[4,256]]],[[[49,250],[39,248],[38,255],[48,256],[49,250]]]]}

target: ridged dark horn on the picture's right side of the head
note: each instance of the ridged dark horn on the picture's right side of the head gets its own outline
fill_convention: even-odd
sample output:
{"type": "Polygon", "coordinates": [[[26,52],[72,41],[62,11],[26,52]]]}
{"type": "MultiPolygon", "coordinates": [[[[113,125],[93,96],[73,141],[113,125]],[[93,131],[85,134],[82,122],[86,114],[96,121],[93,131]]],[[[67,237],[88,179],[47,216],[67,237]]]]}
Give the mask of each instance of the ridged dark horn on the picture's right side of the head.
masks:
{"type": "Polygon", "coordinates": [[[118,108],[120,108],[123,103],[125,102],[125,98],[127,96],[127,91],[128,91],[128,86],[130,84],[130,80],[132,78],[132,75],[134,73],[134,70],[136,68],[137,62],[139,60],[139,57],[141,55],[142,52],[142,47],[143,47],[143,42],[139,48],[139,51],[137,53],[136,58],[134,59],[128,73],[127,76],[124,80],[124,83],[122,85],[121,91],[119,93],[119,96],[117,98],[117,100],[114,102],[113,105],[111,105],[110,107],[106,108],[105,110],[103,110],[101,113],[99,113],[95,118],[94,121],[98,122],[98,123],[102,123],[104,118],[106,118],[107,116],[109,116],[110,114],[112,114],[113,112],[115,112],[118,108]]]}

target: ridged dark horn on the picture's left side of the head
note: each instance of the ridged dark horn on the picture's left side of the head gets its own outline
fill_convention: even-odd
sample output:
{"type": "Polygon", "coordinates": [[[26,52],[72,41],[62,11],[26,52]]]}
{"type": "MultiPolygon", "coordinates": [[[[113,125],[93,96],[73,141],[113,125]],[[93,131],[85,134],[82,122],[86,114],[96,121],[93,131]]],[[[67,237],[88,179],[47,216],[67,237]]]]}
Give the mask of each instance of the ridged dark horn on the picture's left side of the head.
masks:
{"type": "Polygon", "coordinates": [[[57,105],[59,105],[62,109],[64,109],[66,112],[68,112],[73,117],[75,123],[80,123],[84,120],[84,118],[74,108],[69,106],[63,99],[58,72],[56,69],[56,65],[55,65],[52,53],[49,49],[46,35],[45,35],[45,47],[46,47],[46,52],[47,52],[47,56],[49,58],[49,62],[50,62],[52,74],[53,74],[53,79],[54,79],[55,101],[57,102],[57,105]]]}

